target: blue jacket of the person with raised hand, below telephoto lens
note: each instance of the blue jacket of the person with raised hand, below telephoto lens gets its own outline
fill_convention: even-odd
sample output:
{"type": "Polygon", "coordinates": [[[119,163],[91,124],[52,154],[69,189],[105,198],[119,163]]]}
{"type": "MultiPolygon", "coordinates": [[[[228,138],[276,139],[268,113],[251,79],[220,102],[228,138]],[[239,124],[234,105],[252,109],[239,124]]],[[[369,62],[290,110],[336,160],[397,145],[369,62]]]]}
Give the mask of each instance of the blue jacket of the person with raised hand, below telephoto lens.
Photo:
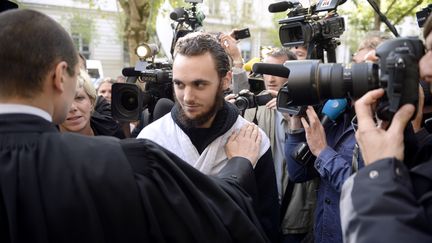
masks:
{"type": "MultiPolygon", "coordinates": [[[[285,143],[285,156],[291,180],[304,182],[320,177],[315,209],[315,242],[342,242],[339,198],[342,184],[351,175],[355,132],[351,117],[343,115],[337,123],[325,127],[328,146],[313,165],[302,165],[290,156],[294,148],[306,141],[305,134],[290,134],[285,143]]],[[[363,163],[359,161],[359,167],[363,163]]]]}

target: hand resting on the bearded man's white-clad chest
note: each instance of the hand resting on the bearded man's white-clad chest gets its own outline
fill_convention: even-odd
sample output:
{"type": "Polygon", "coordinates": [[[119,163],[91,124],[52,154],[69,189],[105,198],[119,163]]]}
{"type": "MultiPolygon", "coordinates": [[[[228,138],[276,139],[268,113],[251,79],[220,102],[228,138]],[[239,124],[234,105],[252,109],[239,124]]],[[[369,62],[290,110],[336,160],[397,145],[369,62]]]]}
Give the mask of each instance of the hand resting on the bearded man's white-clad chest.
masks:
{"type": "Polygon", "coordinates": [[[248,159],[252,166],[258,161],[261,145],[261,133],[258,126],[249,123],[245,124],[240,131],[233,132],[225,144],[225,153],[228,159],[232,157],[243,157],[248,159]]]}

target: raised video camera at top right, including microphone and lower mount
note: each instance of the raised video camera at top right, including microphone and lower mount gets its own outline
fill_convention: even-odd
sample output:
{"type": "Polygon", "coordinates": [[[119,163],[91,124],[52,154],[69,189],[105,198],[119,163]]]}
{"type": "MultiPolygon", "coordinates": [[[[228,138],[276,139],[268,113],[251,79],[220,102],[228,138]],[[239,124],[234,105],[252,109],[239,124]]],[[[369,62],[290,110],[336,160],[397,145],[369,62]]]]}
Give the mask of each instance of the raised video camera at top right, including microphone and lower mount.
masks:
{"type": "Polygon", "coordinates": [[[345,22],[336,8],[345,0],[320,0],[310,8],[303,8],[298,1],[282,1],[269,5],[271,13],[288,12],[288,17],[279,20],[279,39],[283,46],[307,46],[307,59],[324,61],[324,50],[328,53],[329,62],[336,61],[334,53],[340,37],[345,31],[345,22]],[[325,15],[322,12],[327,12],[325,15]],[[313,51],[316,51],[313,55],[313,51]]]}

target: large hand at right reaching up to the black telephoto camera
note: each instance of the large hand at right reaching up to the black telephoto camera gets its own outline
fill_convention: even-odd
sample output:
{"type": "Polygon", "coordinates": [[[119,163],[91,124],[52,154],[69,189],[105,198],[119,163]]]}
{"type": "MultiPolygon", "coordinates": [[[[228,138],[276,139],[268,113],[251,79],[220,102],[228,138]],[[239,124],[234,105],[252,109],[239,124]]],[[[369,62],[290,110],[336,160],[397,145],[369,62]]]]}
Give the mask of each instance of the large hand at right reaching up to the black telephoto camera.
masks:
{"type": "Polygon", "coordinates": [[[365,165],[389,157],[403,160],[403,133],[415,108],[411,104],[402,106],[394,115],[392,123],[386,131],[376,126],[373,119],[373,107],[383,95],[384,89],[376,89],[369,91],[355,102],[358,120],[356,139],[365,165]]]}

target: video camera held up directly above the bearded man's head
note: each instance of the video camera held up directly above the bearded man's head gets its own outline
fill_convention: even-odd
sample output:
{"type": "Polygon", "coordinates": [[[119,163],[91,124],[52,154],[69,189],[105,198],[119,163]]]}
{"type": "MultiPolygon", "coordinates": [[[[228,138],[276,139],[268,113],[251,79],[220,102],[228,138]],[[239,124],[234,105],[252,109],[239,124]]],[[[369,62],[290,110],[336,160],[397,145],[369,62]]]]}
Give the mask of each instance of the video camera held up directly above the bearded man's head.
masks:
{"type": "Polygon", "coordinates": [[[196,9],[196,5],[202,3],[203,0],[185,0],[185,2],[191,3],[192,7],[187,9],[184,7],[176,8],[170,13],[170,18],[177,22],[177,25],[173,24],[172,26],[174,35],[171,43],[171,55],[174,53],[177,40],[201,28],[205,19],[205,15],[196,9]]]}

